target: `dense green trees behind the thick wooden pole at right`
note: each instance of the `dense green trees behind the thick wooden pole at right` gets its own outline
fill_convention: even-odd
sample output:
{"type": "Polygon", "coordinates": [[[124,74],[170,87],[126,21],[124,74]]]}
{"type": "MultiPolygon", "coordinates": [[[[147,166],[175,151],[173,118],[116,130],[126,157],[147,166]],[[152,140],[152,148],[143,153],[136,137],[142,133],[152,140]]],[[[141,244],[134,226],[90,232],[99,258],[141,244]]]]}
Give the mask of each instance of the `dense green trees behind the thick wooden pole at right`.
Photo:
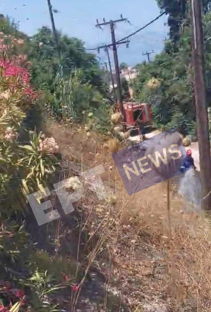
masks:
{"type": "MultiPolygon", "coordinates": [[[[154,126],[158,129],[177,127],[183,135],[196,136],[195,98],[191,52],[189,2],[158,0],[168,13],[170,37],[161,54],[149,64],[136,67],[139,75],[133,87],[135,97],[152,105],[154,126]]],[[[210,22],[209,1],[203,1],[204,46],[207,103],[210,106],[210,22]]]]}

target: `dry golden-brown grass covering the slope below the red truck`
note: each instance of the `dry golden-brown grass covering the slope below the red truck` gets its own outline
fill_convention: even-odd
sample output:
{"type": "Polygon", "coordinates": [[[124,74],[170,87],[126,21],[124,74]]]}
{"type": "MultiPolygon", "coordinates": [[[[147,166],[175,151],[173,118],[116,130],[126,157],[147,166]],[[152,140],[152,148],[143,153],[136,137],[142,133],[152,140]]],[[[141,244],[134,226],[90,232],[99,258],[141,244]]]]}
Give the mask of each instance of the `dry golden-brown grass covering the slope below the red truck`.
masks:
{"type": "MultiPolygon", "coordinates": [[[[55,133],[59,139],[58,129],[55,133]]],[[[109,287],[121,290],[132,311],[141,311],[149,302],[160,302],[174,312],[211,311],[209,217],[194,212],[172,190],[170,239],[166,182],[128,196],[111,157],[121,148],[114,140],[107,142],[108,149],[102,148],[103,139],[96,134],[87,139],[78,133],[68,140],[71,149],[67,141],[57,140],[65,156],[82,158],[82,167],[103,164],[101,178],[115,198],[112,202],[98,201],[94,193],[84,193],[88,243],[94,241],[86,272],[93,263],[98,266],[108,277],[109,287]]]]}

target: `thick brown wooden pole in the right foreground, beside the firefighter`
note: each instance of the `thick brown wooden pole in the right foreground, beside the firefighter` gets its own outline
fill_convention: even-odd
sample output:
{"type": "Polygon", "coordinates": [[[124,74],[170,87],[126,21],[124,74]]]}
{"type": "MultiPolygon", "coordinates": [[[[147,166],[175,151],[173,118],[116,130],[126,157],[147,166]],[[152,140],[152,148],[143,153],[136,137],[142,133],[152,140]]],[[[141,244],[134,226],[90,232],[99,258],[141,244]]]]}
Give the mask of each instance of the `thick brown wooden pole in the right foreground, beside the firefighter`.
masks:
{"type": "Polygon", "coordinates": [[[199,162],[203,190],[202,206],[204,209],[210,210],[211,157],[204,79],[203,28],[200,2],[200,0],[190,0],[192,20],[192,57],[196,100],[197,135],[199,141],[199,162]]]}

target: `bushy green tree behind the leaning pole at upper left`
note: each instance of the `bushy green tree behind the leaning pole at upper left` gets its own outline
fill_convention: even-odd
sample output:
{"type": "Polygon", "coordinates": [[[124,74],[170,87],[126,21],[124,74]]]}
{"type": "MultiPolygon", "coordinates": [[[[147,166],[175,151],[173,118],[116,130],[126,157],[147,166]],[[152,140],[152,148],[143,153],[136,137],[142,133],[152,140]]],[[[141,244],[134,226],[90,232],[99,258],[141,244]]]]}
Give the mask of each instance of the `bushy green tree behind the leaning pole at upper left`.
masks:
{"type": "Polygon", "coordinates": [[[93,54],[86,53],[83,42],[77,38],[63,36],[59,32],[58,40],[61,60],[58,59],[55,51],[50,28],[42,27],[31,38],[29,57],[33,61],[33,83],[38,87],[51,86],[53,90],[55,76],[61,65],[65,76],[68,76],[74,68],[81,69],[81,79],[84,83],[90,83],[101,92],[105,91],[98,61],[93,54]]]}

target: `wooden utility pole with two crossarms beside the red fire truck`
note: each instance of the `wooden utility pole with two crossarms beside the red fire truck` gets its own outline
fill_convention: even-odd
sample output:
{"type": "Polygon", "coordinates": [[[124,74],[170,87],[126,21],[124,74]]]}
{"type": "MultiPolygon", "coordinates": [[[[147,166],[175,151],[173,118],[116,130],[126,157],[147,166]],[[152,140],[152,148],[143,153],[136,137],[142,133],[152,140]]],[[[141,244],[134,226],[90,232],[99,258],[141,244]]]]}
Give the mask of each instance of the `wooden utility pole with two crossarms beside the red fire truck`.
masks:
{"type": "MultiPolygon", "coordinates": [[[[125,117],[125,112],[124,112],[124,107],[123,107],[123,102],[122,102],[122,89],[121,89],[121,81],[120,81],[120,73],[119,73],[119,64],[118,64],[118,56],[117,56],[117,45],[116,45],[116,39],[115,39],[115,32],[114,32],[114,25],[118,22],[124,22],[127,21],[127,18],[123,18],[121,15],[121,19],[118,20],[110,20],[109,22],[106,22],[105,19],[103,19],[103,23],[99,23],[97,20],[97,24],[95,25],[96,27],[102,28],[101,26],[104,25],[110,25],[110,30],[111,30],[111,38],[112,38],[112,46],[113,46],[113,58],[114,58],[114,64],[115,64],[115,72],[116,72],[116,80],[117,80],[117,89],[118,89],[118,100],[119,100],[119,106],[120,110],[122,112],[123,116],[123,121],[126,123],[126,117],[125,117]]],[[[127,47],[128,47],[128,41],[127,42],[127,47]]],[[[123,42],[121,42],[123,43],[123,42]]],[[[120,44],[120,43],[118,43],[120,44]]]]}

